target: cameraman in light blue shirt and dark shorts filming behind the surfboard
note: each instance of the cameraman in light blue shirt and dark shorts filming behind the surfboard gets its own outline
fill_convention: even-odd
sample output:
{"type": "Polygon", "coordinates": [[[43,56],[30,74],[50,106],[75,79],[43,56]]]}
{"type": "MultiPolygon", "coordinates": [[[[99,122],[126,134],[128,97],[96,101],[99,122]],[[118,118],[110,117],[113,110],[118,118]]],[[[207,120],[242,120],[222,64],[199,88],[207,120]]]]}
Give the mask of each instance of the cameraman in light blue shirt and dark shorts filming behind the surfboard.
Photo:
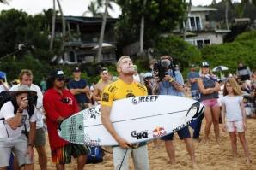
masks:
{"type": "MultiPolygon", "coordinates": [[[[174,69],[171,69],[173,67],[172,58],[170,56],[162,56],[160,58],[160,62],[162,63],[162,66],[168,65],[168,71],[167,73],[160,73],[158,71],[155,72],[155,80],[152,91],[153,95],[171,95],[182,97],[181,91],[183,91],[184,81],[180,71],[174,71],[174,69]],[[159,75],[162,74],[165,74],[165,76],[163,78],[159,77],[159,75]]],[[[165,68],[161,68],[160,66],[159,70],[165,70],[165,68]]],[[[185,141],[186,149],[192,160],[192,168],[197,168],[198,166],[195,160],[194,145],[190,136],[188,126],[180,129],[179,131],[177,131],[177,133],[180,139],[183,139],[185,141]]],[[[161,138],[161,140],[165,141],[166,150],[172,165],[175,164],[174,145],[172,143],[173,137],[174,133],[171,133],[161,138]]]]}

